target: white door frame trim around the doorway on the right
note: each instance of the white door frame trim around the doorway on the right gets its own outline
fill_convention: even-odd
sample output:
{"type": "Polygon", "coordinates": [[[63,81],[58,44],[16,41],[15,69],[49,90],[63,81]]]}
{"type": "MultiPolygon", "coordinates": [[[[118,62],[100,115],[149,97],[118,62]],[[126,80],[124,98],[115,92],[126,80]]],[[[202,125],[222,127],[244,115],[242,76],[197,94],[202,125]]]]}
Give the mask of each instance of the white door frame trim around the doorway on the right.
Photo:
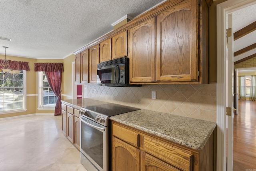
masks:
{"type": "Polygon", "coordinates": [[[226,170],[226,14],[256,4],[255,0],[227,0],[217,7],[217,171],[226,170]]]}

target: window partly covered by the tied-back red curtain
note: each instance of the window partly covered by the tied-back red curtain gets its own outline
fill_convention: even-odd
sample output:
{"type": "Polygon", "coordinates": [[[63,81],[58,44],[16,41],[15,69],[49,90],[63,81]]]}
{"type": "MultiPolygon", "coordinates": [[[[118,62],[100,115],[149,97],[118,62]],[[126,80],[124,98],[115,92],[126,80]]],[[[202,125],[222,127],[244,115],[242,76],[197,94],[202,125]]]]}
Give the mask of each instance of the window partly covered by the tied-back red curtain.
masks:
{"type": "Polygon", "coordinates": [[[57,97],[52,91],[44,72],[38,72],[38,109],[54,109],[57,97]]]}

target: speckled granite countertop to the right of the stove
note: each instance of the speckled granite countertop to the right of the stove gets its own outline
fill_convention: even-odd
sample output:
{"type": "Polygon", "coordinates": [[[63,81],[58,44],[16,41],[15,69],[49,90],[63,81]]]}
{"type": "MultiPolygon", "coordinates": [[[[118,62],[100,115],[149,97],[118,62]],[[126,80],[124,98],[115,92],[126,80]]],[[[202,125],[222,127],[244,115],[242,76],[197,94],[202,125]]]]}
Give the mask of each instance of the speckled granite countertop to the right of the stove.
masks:
{"type": "Polygon", "coordinates": [[[150,133],[195,150],[201,150],[215,122],[140,109],[110,117],[112,121],[150,133]]]}

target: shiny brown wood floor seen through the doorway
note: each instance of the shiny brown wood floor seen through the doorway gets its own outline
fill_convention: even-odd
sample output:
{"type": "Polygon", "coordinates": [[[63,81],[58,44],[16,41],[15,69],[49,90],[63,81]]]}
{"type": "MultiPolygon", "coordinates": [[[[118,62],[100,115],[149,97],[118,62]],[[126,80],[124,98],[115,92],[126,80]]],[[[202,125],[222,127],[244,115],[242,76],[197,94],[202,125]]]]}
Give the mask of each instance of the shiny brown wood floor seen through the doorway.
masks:
{"type": "Polygon", "coordinates": [[[239,100],[234,116],[234,171],[256,171],[256,101],[239,100]]]}

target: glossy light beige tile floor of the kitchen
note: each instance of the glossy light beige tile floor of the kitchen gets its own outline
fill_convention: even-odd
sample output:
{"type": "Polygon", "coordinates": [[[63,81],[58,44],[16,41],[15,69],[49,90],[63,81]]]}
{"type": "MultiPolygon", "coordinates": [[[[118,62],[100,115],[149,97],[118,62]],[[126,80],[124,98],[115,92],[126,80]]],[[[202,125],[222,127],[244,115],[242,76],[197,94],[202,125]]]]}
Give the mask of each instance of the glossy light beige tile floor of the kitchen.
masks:
{"type": "Polygon", "coordinates": [[[0,171],[86,171],[61,116],[0,120],[0,171]]]}

